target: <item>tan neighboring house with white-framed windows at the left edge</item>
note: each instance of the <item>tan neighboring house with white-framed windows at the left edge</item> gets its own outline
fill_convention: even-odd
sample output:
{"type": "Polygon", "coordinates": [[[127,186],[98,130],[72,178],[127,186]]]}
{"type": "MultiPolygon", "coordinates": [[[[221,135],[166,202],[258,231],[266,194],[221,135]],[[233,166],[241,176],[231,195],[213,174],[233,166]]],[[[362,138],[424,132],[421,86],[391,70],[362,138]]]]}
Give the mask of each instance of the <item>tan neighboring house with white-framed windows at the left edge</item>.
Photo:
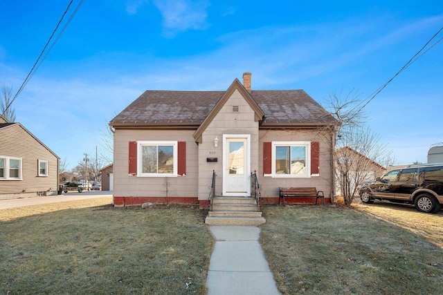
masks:
{"type": "Polygon", "coordinates": [[[0,200],[57,194],[60,158],[0,115],[0,200]]]}

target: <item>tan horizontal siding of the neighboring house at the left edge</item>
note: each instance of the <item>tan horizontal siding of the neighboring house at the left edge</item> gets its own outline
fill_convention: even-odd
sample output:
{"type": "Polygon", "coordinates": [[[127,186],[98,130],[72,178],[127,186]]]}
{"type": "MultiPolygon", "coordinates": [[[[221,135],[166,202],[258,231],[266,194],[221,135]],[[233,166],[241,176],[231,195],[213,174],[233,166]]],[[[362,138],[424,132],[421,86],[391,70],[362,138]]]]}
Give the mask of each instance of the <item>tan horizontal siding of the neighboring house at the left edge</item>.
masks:
{"type": "Polygon", "coordinates": [[[0,129],[0,156],[22,159],[22,180],[0,180],[0,198],[57,193],[58,158],[19,124],[0,129]],[[48,176],[38,176],[38,160],[48,161],[48,176]]]}

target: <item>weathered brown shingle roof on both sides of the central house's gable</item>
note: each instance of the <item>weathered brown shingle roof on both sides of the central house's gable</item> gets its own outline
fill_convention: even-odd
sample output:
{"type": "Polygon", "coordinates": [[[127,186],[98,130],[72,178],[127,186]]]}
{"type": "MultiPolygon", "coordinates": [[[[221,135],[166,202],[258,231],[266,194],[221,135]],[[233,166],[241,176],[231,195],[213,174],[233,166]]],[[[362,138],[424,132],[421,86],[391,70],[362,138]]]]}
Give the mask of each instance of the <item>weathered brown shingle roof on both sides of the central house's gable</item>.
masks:
{"type": "MultiPolygon", "coordinates": [[[[145,91],[111,125],[200,125],[225,91],[145,91]]],[[[329,124],[335,119],[305,91],[251,91],[266,124],[329,124]]]]}

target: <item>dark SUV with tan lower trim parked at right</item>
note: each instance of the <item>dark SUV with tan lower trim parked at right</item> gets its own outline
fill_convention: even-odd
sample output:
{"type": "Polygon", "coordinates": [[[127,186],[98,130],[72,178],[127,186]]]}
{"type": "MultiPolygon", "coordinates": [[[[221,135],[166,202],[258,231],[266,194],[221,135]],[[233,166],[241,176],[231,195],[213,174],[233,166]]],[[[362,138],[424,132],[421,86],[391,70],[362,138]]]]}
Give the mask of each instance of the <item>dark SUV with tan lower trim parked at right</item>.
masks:
{"type": "Polygon", "coordinates": [[[391,170],[360,189],[362,202],[389,200],[415,204],[415,209],[437,213],[443,204],[443,163],[411,165],[391,170]]]}

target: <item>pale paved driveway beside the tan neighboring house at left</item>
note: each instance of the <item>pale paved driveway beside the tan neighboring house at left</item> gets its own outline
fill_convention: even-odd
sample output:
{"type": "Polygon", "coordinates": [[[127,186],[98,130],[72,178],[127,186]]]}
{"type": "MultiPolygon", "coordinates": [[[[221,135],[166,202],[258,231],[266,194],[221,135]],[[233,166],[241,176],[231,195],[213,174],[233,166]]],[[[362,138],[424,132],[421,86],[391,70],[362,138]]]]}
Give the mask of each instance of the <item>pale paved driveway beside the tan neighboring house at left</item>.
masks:
{"type": "Polygon", "coordinates": [[[83,193],[62,193],[60,196],[0,200],[0,210],[8,208],[24,207],[36,204],[48,204],[55,202],[85,200],[85,199],[111,197],[111,196],[112,196],[112,191],[84,191],[83,193]]]}

